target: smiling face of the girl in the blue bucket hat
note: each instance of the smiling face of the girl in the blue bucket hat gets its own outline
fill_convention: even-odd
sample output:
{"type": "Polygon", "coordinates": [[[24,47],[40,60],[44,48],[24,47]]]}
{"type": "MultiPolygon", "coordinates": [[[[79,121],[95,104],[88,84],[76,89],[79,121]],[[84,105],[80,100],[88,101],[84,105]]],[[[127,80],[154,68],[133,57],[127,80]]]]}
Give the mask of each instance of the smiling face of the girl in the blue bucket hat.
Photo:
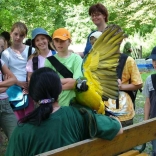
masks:
{"type": "Polygon", "coordinates": [[[37,35],[34,42],[40,51],[48,49],[49,40],[45,35],[37,35]]]}

